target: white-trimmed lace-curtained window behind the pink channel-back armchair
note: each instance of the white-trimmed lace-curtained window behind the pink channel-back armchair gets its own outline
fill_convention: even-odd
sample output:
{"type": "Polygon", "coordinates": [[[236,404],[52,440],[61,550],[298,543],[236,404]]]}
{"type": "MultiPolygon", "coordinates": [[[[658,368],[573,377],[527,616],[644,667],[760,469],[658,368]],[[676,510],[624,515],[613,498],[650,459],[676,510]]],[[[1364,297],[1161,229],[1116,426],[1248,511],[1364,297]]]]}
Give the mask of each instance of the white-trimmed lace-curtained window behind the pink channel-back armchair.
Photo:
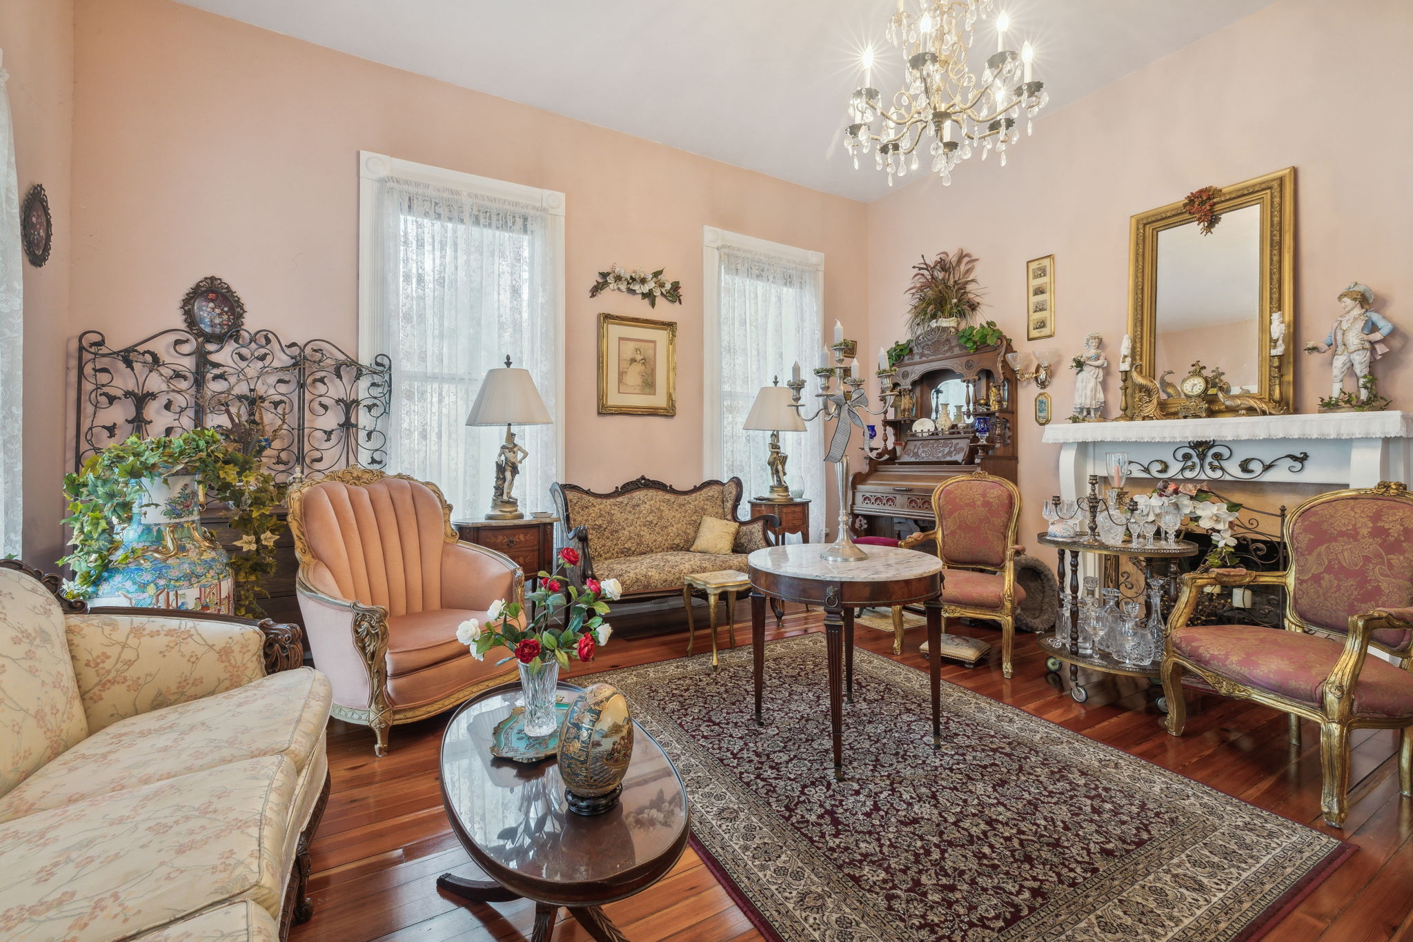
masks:
{"type": "Polygon", "coordinates": [[[523,511],[562,467],[564,195],[360,154],[359,354],[393,360],[389,469],[486,513],[504,428],[466,425],[487,370],[530,370],[552,425],[517,428],[523,511]]]}

